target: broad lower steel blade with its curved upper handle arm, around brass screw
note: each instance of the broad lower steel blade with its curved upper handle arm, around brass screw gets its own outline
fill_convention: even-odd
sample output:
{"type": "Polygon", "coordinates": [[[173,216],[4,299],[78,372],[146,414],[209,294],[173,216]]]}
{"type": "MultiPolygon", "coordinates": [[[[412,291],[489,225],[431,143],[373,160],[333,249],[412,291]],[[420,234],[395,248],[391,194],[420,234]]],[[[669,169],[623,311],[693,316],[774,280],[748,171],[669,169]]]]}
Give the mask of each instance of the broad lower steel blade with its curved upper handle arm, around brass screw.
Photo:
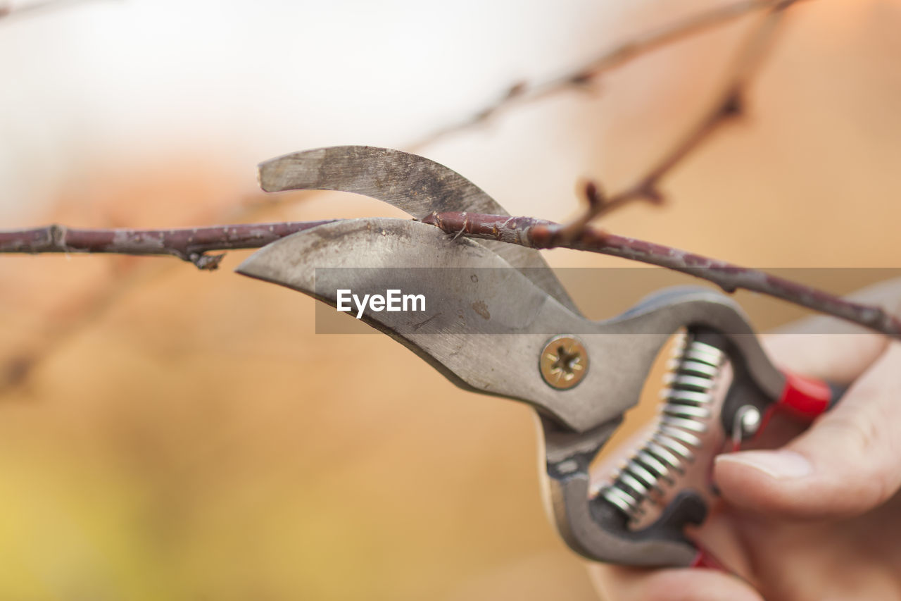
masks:
{"type": "MultiPolygon", "coordinates": [[[[332,306],[339,289],[422,293],[423,312],[382,310],[362,319],[454,384],[529,402],[577,432],[618,420],[638,402],[647,373],[635,366],[651,365],[687,323],[741,335],[735,344],[743,345],[756,380],[779,382],[747,321],[722,294],[696,287],[661,291],[622,315],[589,321],[478,242],[453,240],[408,219],[314,227],[264,246],[237,271],[332,306]],[[566,390],[545,382],[539,367],[542,349],[556,335],[578,337],[590,359],[578,385],[566,390]]],[[[778,397],[778,390],[768,392],[778,397]]]]}

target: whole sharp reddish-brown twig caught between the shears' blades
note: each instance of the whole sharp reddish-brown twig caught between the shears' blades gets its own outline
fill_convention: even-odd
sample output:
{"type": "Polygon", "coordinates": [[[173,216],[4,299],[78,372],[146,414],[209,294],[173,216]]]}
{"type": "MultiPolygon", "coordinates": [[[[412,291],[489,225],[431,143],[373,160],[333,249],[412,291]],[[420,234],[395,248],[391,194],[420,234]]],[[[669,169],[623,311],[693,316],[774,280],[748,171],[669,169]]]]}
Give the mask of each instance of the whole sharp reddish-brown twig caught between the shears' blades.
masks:
{"type": "MultiPolygon", "coordinates": [[[[215,269],[223,255],[214,251],[258,248],[278,238],[330,223],[296,221],[278,224],[191,227],[180,229],[75,229],[48,226],[0,231],[0,253],[115,253],[176,256],[200,269],[215,269]]],[[[535,217],[504,217],[477,213],[434,213],[423,223],[451,236],[490,238],[530,248],[573,248],[658,265],[714,282],[727,292],[760,292],[847,319],[866,328],[901,338],[901,320],[885,310],[841,299],[797,282],[756,269],[726,263],[700,254],[658,245],[637,238],[616,236],[596,227],[584,227],[576,237],[563,235],[564,226],[535,217]]]]}

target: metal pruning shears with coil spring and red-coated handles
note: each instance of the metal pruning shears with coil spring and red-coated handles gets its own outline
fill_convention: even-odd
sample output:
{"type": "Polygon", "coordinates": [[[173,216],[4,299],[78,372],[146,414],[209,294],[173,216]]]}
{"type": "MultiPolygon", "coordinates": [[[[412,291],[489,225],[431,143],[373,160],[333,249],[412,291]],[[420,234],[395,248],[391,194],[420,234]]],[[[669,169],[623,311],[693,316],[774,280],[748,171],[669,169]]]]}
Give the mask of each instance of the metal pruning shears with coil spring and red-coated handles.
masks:
{"type": "Polygon", "coordinates": [[[356,192],[414,217],[326,223],[261,248],[237,271],[334,307],[350,291],[361,298],[378,291],[421,295],[423,311],[387,310],[383,303],[359,317],[460,388],[532,406],[553,522],[587,559],[718,567],[686,533],[687,525],[705,520],[707,501],[696,490],[678,490],[679,476],[708,444],[705,434],[718,421],[737,449],[775,412],[812,420],[841,396],[831,384],[780,371],[739,306],[716,291],[662,290],[614,318],[584,318],[538,251],[448,236],[419,221],[436,211],[508,215],[437,162],[340,146],[287,154],[262,163],[259,172],[267,191],[356,192]],[[677,332],[681,343],[655,429],[593,490],[589,464],[638,402],[651,364],[677,332]],[[659,515],[642,522],[648,505],[665,499],[659,515]]]}

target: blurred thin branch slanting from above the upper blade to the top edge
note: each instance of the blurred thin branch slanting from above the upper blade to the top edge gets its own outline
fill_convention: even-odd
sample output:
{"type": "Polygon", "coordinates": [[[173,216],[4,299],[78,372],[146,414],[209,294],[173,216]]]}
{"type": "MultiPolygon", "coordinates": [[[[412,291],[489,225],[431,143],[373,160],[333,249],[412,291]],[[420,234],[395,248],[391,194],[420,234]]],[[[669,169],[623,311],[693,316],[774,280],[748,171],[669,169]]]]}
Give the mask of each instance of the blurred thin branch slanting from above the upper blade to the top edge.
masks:
{"type": "Polygon", "coordinates": [[[622,67],[624,64],[657,51],[674,42],[690,38],[698,33],[707,32],[719,25],[729,23],[739,17],[755,11],[782,9],[787,5],[795,4],[797,0],[738,0],[732,4],[716,6],[704,12],[692,14],[686,18],[670,23],[668,26],[654,32],[647,32],[635,36],[633,39],[605,51],[595,59],[570,69],[563,75],[547,79],[545,81],[529,84],[520,81],[508,88],[503,96],[495,102],[483,107],[475,115],[460,122],[441,127],[431,134],[423,136],[417,142],[408,146],[411,152],[421,149],[423,146],[434,143],[450,134],[457,134],[478,125],[484,125],[498,113],[513,106],[523,105],[568,89],[585,88],[596,82],[599,77],[609,71],[622,67]]]}

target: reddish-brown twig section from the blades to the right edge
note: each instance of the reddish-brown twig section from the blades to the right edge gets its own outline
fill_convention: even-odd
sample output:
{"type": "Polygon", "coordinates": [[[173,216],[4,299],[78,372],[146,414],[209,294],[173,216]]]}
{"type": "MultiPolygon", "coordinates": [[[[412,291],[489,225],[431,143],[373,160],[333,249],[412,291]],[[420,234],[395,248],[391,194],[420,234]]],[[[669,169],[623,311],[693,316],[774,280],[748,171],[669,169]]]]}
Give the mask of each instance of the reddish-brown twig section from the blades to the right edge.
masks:
{"type": "Polygon", "coordinates": [[[564,226],[552,221],[473,213],[434,213],[423,219],[423,223],[440,227],[454,236],[500,240],[530,248],[573,248],[658,265],[713,282],[727,292],[739,289],[760,292],[901,339],[901,319],[879,307],[846,301],[829,292],[749,267],[616,236],[596,227],[584,227],[578,236],[567,237],[564,226]]]}

